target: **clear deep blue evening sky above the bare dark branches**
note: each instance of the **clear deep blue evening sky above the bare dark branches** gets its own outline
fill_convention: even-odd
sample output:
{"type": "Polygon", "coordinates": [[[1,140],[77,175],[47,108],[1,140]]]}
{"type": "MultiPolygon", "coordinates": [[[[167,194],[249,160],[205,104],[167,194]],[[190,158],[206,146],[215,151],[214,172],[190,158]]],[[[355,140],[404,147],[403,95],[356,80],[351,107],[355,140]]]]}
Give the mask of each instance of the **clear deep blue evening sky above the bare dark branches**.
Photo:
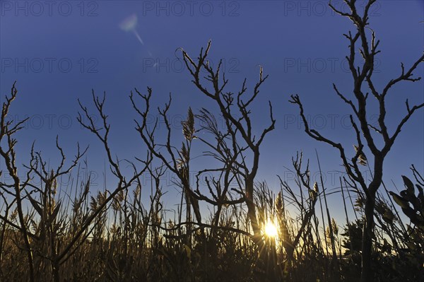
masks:
{"type": "MultiPolygon", "coordinates": [[[[337,187],[341,175],[336,173],[341,170],[338,152],[305,134],[298,108],[288,102],[290,94],[300,95],[312,127],[354,153],[355,139],[346,119],[350,108],[332,90],[332,83],[336,83],[353,98],[344,59],[348,42],[342,34],[354,28],[350,20],[335,15],[327,1],[0,3],[1,102],[10,93],[13,81],[18,81],[19,94],[11,115],[17,119],[30,117],[18,135],[18,163],[28,163],[34,140],[45,158],[57,163],[54,141],[59,134],[69,158],[76,152],[77,141],[82,146],[90,144],[90,170],[102,174],[105,153],[98,140],[76,122],[77,98],[92,106],[91,88],[99,95],[107,93],[110,144],[120,159],[143,157],[146,150],[134,131],[135,115],[128,98],[134,87],[141,92],[152,87],[155,106],[163,105],[172,93],[172,122],[175,136],[180,136],[179,122],[189,106],[195,111],[216,107],[192,85],[175,50],[182,47],[196,57],[209,39],[212,64],[220,58],[224,61],[230,79],[228,90],[239,90],[245,77],[252,90],[259,78],[259,65],[264,67],[264,74],[269,74],[252,108],[257,132],[269,122],[268,100],[273,103],[277,120],[276,129],[261,150],[258,180],[266,180],[277,190],[276,175],[285,180],[292,177],[288,169],[296,151],[311,159],[313,180],[318,180],[317,149],[326,187],[337,187]],[[137,23],[132,26],[134,18],[137,23]]],[[[423,3],[385,0],[371,9],[370,27],[381,40],[375,74],[380,89],[400,74],[401,62],[411,66],[422,54],[423,3]]],[[[358,1],[359,9],[364,4],[358,1]]],[[[340,0],[334,5],[346,9],[340,0]]],[[[415,75],[423,76],[423,64],[415,75]]],[[[393,88],[387,99],[389,129],[393,130],[406,113],[406,98],[410,105],[423,102],[423,81],[393,88]]],[[[384,180],[390,189],[394,189],[391,180],[401,187],[401,175],[411,176],[411,164],[420,172],[424,170],[423,120],[424,111],[420,110],[404,127],[387,157],[384,180]]],[[[101,187],[100,177],[98,182],[101,187]]],[[[331,196],[331,206],[341,208],[340,200],[339,194],[331,196]]]]}

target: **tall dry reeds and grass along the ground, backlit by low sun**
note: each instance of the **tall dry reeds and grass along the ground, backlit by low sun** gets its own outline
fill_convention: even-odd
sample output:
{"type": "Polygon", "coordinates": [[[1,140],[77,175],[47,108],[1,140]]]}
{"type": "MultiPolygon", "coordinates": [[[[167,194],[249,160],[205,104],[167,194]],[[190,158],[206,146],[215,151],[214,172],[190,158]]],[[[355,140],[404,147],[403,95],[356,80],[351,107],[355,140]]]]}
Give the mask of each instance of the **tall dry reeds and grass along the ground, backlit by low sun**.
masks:
{"type": "MultiPolygon", "coordinates": [[[[86,168],[83,171],[87,171],[86,168]]],[[[65,196],[65,187],[54,185],[47,185],[25,198],[27,204],[33,206],[25,214],[25,222],[31,234],[36,281],[54,281],[49,259],[54,253],[51,248],[60,253],[86,218],[107,198],[105,192],[91,191],[89,177],[85,182],[70,183],[73,185],[67,187],[67,191],[73,192],[71,199],[65,196]],[[51,199],[41,200],[46,196],[51,199]],[[40,206],[43,202],[46,204],[40,206]],[[57,212],[56,207],[59,207],[57,212]],[[53,217],[48,220],[49,224],[42,220],[38,208],[51,215],[47,220],[53,217]]],[[[260,250],[251,236],[241,232],[250,230],[243,204],[223,208],[218,226],[213,227],[211,221],[204,225],[194,223],[192,233],[187,234],[187,225],[175,221],[175,218],[182,218],[178,211],[175,218],[169,218],[170,213],[163,210],[160,185],[153,190],[148,206],[141,204],[141,189],[131,187],[105,206],[76,246],[61,260],[60,281],[357,281],[360,271],[358,247],[350,250],[347,256],[343,253],[351,246],[349,240],[360,238],[353,234],[351,238],[347,229],[341,236],[343,232],[336,230],[338,225],[333,219],[331,226],[337,254],[334,260],[328,223],[324,233],[319,207],[314,207],[317,197],[322,198],[324,194],[312,192],[313,188],[309,194],[305,193],[307,189],[301,182],[298,184],[298,192],[295,192],[282,182],[278,194],[271,192],[266,183],[257,184],[255,203],[259,222],[263,226],[271,218],[278,226],[277,239],[264,236],[265,248],[260,250]],[[298,213],[290,215],[288,209],[296,209],[289,206],[295,206],[298,213]],[[191,238],[192,247],[187,245],[187,237],[191,238]],[[347,242],[343,250],[342,240],[347,242]]],[[[394,216],[390,224],[384,219],[384,213],[387,217],[384,207],[392,211],[394,206],[385,201],[380,206],[382,213],[377,213],[376,217],[385,224],[375,228],[375,267],[382,268],[377,278],[398,281],[399,277],[404,277],[408,281],[408,278],[422,276],[419,268],[419,263],[423,262],[422,249],[413,246],[422,246],[423,234],[414,228],[413,240],[406,242],[400,218],[394,216]],[[402,262],[405,258],[408,263],[402,262]],[[416,269],[412,262],[416,262],[416,269]],[[411,271],[400,271],[393,264],[411,271]]],[[[361,218],[361,207],[357,209],[361,218]]],[[[1,212],[0,278],[2,281],[26,281],[29,273],[25,244],[18,228],[13,228],[19,225],[16,211],[12,208],[7,214],[3,204],[1,212]]],[[[209,218],[213,218],[213,214],[209,218]]]]}

